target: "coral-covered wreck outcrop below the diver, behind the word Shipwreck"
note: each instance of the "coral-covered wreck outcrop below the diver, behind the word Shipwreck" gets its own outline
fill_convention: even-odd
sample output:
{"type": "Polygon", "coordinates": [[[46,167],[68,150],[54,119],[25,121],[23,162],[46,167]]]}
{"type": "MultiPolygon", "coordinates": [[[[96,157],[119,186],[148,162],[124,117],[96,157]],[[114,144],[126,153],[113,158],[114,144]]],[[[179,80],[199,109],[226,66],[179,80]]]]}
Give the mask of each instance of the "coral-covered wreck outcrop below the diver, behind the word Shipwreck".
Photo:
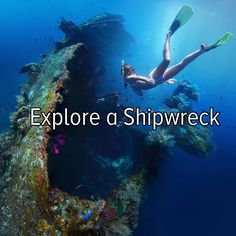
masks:
{"type": "MultiPolygon", "coordinates": [[[[165,112],[190,112],[194,103],[199,100],[199,93],[194,84],[190,81],[180,81],[173,95],[168,97],[162,108],[165,112]]],[[[160,146],[168,149],[178,146],[198,157],[206,157],[214,150],[211,143],[211,130],[208,127],[191,126],[189,124],[178,126],[166,126],[150,131],[146,141],[150,146],[160,146]]]]}

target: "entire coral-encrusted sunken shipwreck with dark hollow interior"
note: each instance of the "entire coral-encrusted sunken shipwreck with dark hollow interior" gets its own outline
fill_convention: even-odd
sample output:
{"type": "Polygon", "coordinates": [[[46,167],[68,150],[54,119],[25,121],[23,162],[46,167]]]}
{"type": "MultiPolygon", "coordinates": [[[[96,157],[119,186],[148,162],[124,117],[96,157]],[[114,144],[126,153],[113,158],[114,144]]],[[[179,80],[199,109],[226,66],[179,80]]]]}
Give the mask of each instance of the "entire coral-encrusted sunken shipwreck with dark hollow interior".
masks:
{"type": "MultiPolygon", "coordinates": [[[[30,126],[32,107],[123,114],[116,91],[98,95],[114,48],[135,43],[123,22],[110,14],[80,25],[63,19],[65,38],[21,69],[29,80],[17,96],[11,129],[0,135],[1,235],[132,235],[146,189],[171,150],[199,157],[213,150],[211,131],[201,126],[30,126]]],[[[161,109],[191,111],[198,100],[195,86],[184,80],[161,109]]]]}

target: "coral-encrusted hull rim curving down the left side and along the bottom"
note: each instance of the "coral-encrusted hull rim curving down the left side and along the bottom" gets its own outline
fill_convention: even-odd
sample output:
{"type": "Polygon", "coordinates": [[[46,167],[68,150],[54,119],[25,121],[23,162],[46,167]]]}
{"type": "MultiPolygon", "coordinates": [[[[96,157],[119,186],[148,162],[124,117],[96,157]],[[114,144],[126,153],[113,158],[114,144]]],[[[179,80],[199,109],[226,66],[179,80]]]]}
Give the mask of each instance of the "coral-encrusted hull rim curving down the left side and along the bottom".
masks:
{"type": "MultiPolygon", "coordinates": [[[[90,23],[86,25],[89,27],[90,23]]],[[[122,24],[119,27],[122,32],[122,24]]],[[[94,30],[99,29],[100,25],[94,27],[94,30]]],[[[103,43],[109,46],[106,39],[103,43]]],[[[17,98],[17,111],[11,115],[12,130],[1,135],[2,235],[86,231],[94,227],[102,213],[104,200],[79,200],[62,191],[49,189],[47,148],[51,128],[29,125],[31,107],[40,107],[44,112],[57,110],[63,96],[69,93],[66,83],[71,79],[72,67],[79,71],[87,54],[85,45],[73,44],[50,53],[40,64],[30,63],[21,70],[29,75],[29,82],[22,86],[17,98]]]]}

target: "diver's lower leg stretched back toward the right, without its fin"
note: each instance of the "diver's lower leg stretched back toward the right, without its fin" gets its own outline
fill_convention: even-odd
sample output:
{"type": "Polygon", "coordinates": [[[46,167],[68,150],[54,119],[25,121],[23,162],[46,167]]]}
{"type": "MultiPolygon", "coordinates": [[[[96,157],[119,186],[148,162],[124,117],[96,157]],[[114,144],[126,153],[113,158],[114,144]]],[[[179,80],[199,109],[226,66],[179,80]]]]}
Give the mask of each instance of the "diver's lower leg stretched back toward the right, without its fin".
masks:
{"type": "Polygon", "coordinates": [[[194,61],[196,58],[198,58],[200,55],[202,55],[205,52],[207,52],[207,50],[205,50],[204,45],[201,45],[201,49],[189,54],[180,63],[167,69],[165,73],[163,74],[163,77],[165,78],[165,80],[173,78],[180,71],[182,71],[188,64],[190,64],[192,61],[194,61]]]}

